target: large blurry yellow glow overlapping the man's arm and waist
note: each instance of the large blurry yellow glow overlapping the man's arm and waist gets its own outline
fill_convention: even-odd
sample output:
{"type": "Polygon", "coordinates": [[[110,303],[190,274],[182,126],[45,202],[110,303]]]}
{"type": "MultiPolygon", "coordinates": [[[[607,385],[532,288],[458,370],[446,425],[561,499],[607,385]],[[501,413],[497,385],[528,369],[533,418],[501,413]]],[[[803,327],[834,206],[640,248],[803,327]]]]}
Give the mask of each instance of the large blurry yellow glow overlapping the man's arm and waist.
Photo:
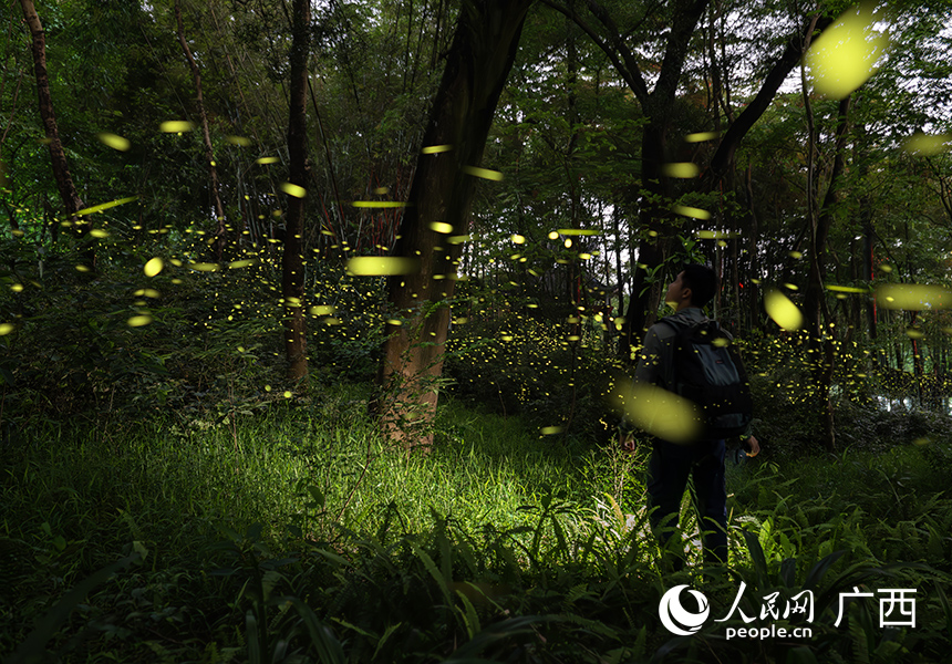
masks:
{"type": "Polygon", "coordinates": [[[702,434],[697,407],[661,387],[644,383],[624,385],[617,388],[611,401],[629,422],[664,440],[689,444],[702,434]]]}

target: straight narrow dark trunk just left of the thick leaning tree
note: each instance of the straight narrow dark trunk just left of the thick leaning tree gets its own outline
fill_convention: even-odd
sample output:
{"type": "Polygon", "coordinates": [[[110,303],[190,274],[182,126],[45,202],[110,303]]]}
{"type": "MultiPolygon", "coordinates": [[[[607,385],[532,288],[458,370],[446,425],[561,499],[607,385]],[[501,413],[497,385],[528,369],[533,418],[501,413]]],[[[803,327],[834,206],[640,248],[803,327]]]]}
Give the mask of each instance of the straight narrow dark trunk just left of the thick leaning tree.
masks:
{"type": "Polygon", "coordinates": [[[308,185],[307,92],[310,54],[310,0],[294,0],[291,42],[291,84],[288,113],[288,210],[284,216],[284,253],[281,260],[281,294],[284,299],[284,353],[288,378],[308,374],[307,325],[304,324],[304,190],[308,185]]]}

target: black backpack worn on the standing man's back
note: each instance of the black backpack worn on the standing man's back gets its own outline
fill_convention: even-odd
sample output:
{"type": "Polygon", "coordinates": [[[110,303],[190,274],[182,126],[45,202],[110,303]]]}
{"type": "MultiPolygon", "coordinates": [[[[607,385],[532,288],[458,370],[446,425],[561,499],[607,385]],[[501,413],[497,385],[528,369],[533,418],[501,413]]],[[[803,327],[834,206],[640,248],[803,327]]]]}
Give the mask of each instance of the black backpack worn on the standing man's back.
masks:
{"type": "Polygon", "coordinates": [[[674,385],[669,390],[694,402],[704,423],[703,439],[745,433],[754,418],[754,402],[744,362],[731,335],[717,321],[682,324],[666,319],[672,340],[674,385]]]}

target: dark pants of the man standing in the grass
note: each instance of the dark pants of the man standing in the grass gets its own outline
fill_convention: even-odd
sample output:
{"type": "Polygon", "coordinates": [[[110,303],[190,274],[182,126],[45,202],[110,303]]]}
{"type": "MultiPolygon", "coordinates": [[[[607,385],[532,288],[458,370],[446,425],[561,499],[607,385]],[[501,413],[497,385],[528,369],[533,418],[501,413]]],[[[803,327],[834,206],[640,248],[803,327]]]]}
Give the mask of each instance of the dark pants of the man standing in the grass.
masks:
{"type": "MultiPolygon", "coordinates": [[[[654,439],[648,463],[651,528],[664,547],[677,526],[681,499],[689,477],[694,484],[693,501],[703,535],[704,562],[727,562],[727,488],[724,480],[724,440],[701,440],[675,445],[654,439]]],[[[680,549],[679,549],[680,550],[680,549]]],[[[680,558],[675,567],[681,568],[680,558]]]]}

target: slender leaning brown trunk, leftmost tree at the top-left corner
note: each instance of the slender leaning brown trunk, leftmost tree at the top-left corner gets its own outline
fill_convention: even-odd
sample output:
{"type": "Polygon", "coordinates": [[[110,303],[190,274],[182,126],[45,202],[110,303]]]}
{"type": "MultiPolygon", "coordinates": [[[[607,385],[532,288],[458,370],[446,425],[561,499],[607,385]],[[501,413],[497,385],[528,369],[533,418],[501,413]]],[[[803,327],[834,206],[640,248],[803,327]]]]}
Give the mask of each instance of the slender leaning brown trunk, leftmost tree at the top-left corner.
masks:
{"type": "Polygon", "coordinates": [[[73,184],[70,168],[66,164],[66,154],[60,142],[60,129],[56,126],[56,115],[53,113],[53,98],[50,95],[50,80],[46,74],[46,34],[33,0],[20,0],[23,9],[23,18],[30,29],[31,44],[33,50],[33,71],[37,74],[37,94],[40,98],[40,117],[46,134],[46,146],[50,149],[50,163],[53,166],[53,178],[56,180],[56,189],[66,211],[66,217],[72,221],[80,235],[89,230],[84,219],[77,219],[76,212],[85,207],[73,184]]]}

